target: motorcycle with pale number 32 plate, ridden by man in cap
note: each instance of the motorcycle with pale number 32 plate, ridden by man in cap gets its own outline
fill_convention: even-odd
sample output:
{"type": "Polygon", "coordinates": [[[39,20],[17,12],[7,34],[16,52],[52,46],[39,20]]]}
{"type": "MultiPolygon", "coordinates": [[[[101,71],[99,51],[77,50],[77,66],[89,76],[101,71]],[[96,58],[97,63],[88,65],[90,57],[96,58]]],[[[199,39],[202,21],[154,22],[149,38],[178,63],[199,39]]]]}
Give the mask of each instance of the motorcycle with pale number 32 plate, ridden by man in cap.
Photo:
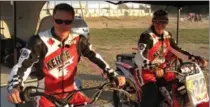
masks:
{"type": "MultiPolygon", "coordinates": [[[[136,53],[119,54],[116,57],[116,70],[126,77],[126,85],[123,89],[129,92],[132,97],[131,99],[128,99],[121,93],[114,91],[113,99],[115,107],[124,107],[124,105],[140,107],[143,80],[139,78],[141,72],[138,71],[138,66],[135,64],[135,55],[136,53]]],[[[186,103],[185,96],[189,99],[190,107],[200,107],[199,105],[207,103],[209,101],[209,96],[206,78],[203,73],[204,69],[202,70],[198,64],[191,62],[183,63],[180,61],[177,63],[179,66],[175,66],[174,64],[175,63],[173,62],[170,66],[174,68],[173,71],[177,75],[175,81],[179,84],[179,87],[176,88],[176,91],[180,92],[178,93],[178,99],[181,107],[184,107],[186,103]]],[[[162,102],[159,106],[173,107],[173,101],[170,98],[167,98],[168,96],[172,97],[171,92],[166,93],[163,90],[163,87],[159,87],[159,89],[163,96],[162,102]]]]}

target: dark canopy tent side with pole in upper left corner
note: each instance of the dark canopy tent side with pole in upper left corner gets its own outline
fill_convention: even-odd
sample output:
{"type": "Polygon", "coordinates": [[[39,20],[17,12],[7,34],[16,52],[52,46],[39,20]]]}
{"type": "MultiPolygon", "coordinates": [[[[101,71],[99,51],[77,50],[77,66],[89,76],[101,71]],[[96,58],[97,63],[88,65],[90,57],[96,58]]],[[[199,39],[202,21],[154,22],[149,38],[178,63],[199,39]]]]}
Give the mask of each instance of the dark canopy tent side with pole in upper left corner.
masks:
{"type": "MultiPolygon", "coordinates": [[[[0,1],[0,35],[6,38],[12,38],[13,48],[16,47],[16,38],[18,36],[21,36],[23,40],[27,40],[35,33],[37,22],[39,21],[39,14],[45,2],[0,1]],[[9,33],[5,34],[5,32],[9,33]]],[[[14,52],[16,53],[15,48],[14,52]]],[[[15,56],[14,62],[16,62],[16,59],[15,56]]]]}

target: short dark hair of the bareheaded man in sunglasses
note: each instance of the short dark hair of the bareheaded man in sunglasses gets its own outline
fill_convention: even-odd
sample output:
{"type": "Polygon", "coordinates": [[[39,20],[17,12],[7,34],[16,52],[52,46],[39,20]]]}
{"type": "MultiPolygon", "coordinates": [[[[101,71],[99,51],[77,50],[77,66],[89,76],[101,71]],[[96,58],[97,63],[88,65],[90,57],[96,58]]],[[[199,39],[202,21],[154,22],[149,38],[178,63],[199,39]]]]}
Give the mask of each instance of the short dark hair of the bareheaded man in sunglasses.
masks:
{"type": "Polygon", "coordinates": [[[73,18],[74,18],[74,15],[75,15],[74,8],[71,5],[67,4],[67,3],[57,4],[55,6],[55,8],[53,9],[53,15],[55,15],[57,11],[69,12],[69,13],[72,14],[73,18]]]}

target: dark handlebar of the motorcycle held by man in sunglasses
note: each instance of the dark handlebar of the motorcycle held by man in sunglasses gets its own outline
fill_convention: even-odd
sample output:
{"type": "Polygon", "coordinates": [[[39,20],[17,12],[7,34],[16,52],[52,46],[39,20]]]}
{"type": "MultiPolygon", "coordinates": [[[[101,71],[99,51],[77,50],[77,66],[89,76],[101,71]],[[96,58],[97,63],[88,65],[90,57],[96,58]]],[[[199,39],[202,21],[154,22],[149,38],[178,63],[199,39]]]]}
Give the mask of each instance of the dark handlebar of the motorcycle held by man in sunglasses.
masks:
{"type": "MultiPolygon", "coordinates": [[[[105,82],[101,86],[90,87],[90,88],[83,88],[83,89],[79,89],[79,90],[64,92],[64,93],[68,93],[69,94],[65,99],[58,99],[58,98],[56,98],[54,96],[54,95],[57,95],[57,94],[64,94],[64,93],[47,94],[47,93],[44,93],[44,92],[37,91],[37,89],[38,89],[38,87],[35,87],[35,86],[28,86],[28,87],[26,87],[20,93],[20,97],[21,97],[22,101],[26,101],[26,102],[33,101],[34,97],[36,97],[36,96],[44,96],[49,101],[54,103],[56,105],[56,107],[63,107],[65,105],[69,104],[68,101],[72,98],[74,93],[76,93],[78,91],[93,90],[93,89],[98,89],[98,91],[95,92],[95,94],[92,97],[93,100],[91,102],[89,102],[88,104],[94,103],[99,98],[99,96],[101,95],[102,91],[107,91],[107,90],[119,91],[121,93],[124,93],[128,98],[130,98],[130,94],[127,91],[119,89],[119,88],[116,88],[116,85],[113,84],[112,82],[105,82]],[[108,88],[106,88],[107,86],[108,86],[108,88]],[[33,90],[36,90],[36,91],[33,91],[33,90]]],[[[82,104],[82,105],[86,105],[86,104],[82,104]]],[[[82,105],[76,105],[76,106],[82,106],[82,105]]]]}

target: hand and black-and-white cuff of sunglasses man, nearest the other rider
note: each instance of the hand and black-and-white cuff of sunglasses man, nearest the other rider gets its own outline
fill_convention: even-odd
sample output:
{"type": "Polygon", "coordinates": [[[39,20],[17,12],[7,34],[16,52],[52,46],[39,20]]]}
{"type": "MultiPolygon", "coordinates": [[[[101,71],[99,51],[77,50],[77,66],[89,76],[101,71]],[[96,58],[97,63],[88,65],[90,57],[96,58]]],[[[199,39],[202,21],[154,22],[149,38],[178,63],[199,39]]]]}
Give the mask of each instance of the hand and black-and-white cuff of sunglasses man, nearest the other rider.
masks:
{"type": "Polygon", "coordinates": [[[125,85],[125,77],[124,76],[119,75],[113,69],[108,69],[107,72],[108,72],[109,80],[115,82],[116,85],[118,85],[118,87],[125,85]]]}

